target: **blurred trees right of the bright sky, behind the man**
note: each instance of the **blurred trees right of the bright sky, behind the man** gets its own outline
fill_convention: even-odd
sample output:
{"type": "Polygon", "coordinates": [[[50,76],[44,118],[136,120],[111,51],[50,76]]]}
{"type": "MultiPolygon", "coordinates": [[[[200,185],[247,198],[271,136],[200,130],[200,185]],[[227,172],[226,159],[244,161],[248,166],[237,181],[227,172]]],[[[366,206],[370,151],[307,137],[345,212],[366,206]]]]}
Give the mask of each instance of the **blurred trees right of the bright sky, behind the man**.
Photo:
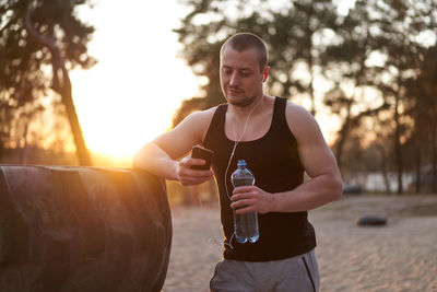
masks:
{"type": "Polygon", "coordinates": [[[375,172],[387,191],[402,194],[410,173],[413,190],[436,192],[436,0],[180,2],[190,9],[175,30],[180,56],[202,91],[181,104],[174,125],[225,102],[220,47],[251,32],[269,46],[268,92],[319,121],[336,117],[331,148],[346,183],[375,172]]]}

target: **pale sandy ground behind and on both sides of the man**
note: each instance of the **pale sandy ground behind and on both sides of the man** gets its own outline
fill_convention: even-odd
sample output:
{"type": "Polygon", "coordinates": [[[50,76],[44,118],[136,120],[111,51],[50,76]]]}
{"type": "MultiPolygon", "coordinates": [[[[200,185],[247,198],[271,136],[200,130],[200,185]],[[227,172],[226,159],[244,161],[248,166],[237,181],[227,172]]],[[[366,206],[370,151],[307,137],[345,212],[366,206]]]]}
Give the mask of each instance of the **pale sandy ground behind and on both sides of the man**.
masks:
{"type": "MultiPolygon", "coordinates": [[[[164,292],[209,291],[222,258],[217,207],[174,207],[174,237],[164,292]]],[[[320,291],[437,292],[437,196],[346,197],[310,212],[317,234],[320,291]],[[359,215],[385,226],[358,226],[359,215]]]]}

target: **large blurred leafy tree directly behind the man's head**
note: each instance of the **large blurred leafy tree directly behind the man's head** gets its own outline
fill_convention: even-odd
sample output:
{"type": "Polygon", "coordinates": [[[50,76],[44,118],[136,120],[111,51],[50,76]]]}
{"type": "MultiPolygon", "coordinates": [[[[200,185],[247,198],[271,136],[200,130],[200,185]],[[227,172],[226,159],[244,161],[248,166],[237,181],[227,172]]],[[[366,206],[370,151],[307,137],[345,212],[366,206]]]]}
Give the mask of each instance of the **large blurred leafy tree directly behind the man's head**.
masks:
{"type": "Polygon", "coordinates": [[[188,0],[184,4],[192,7],[192,11],[175,30],[184,45],[180,56],[194,74],[205,81],[201,85],[202,96],[184,102],[174,125],[192,110],[225,102],[220,87],[218,54],[222,43],[238,32],[252,32],[268,44],[269,63],[274,68],[268,82],[272,91],[283,96],[307,95],[311,112],[316,114],[314,82],[321,70],[321,47],[315,39],[334,23],[335,7],[330,0],[293,1],[280,8],[250,1],[235,4],[233,1],[188,0]],[[205,16],[211,21],[204,22],[205,16]]]}

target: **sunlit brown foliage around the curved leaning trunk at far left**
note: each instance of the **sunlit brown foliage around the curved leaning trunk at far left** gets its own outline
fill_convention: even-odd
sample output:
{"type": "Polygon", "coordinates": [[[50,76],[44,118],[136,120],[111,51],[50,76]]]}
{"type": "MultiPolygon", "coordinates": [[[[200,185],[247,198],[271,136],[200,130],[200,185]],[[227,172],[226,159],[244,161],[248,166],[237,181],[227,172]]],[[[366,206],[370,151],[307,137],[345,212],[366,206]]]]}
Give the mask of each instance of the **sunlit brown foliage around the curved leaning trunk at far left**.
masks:
{"type": "Polygon", "coordinates": [[[85,3],[85,0],[0,0],[0,156],[11,136],[22,131],[13,125],[17,125],[14,120],[23,108],[32,116],[31,112],[47,106],[42,98],[62,85],[54,52],[25,27],[26,13],[32,11],[29,21],[35,32],[59,49],[68,70],[87,69],[95,63],[86,48],[94,27],[81,22],[75,12],[78,5],[85,3]]]}

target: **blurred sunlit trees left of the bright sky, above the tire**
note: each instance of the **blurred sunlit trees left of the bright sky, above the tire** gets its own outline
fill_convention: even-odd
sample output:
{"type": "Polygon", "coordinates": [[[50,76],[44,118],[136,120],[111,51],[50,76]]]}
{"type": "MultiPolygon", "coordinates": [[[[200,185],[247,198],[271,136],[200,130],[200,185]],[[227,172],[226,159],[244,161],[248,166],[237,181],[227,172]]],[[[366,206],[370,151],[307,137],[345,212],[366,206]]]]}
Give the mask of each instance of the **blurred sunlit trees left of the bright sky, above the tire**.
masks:
{"type": "Polygon", "coordinates": [[[91,165],[68,73],[95,63],[86,47],[94,27],[75,13],[85,3],[0,0],[0,159],[19,149],[25,163],[29,147],[60,151],[72,137],[78,162],[91,165]]]}

